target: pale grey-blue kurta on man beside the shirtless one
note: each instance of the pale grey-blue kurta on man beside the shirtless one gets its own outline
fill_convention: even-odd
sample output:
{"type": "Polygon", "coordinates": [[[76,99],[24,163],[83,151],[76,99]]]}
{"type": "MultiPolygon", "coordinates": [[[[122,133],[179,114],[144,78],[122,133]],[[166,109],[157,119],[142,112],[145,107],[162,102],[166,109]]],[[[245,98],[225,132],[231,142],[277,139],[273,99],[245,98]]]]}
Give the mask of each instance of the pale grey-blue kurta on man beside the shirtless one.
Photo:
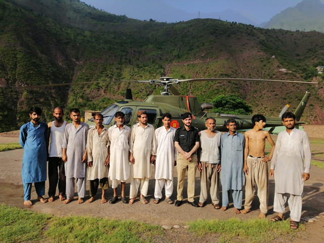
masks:
{"type": "Polygon", "coordinates": [[[235,133],[231,136],[229,133],[225,133],[222,135],[221,183],[223,190],[241,190],[244,186],[244,147],[243,134],[235,133]]]}

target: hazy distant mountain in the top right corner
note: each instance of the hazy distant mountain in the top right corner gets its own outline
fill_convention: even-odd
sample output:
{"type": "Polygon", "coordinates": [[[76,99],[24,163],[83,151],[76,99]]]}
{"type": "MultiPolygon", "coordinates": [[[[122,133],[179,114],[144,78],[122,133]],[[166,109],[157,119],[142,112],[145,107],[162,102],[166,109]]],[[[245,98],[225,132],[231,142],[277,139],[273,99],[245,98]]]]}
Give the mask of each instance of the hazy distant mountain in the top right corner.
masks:
{"type": "Polygon", "coordinates": [[[324,32],[324,1],[304,0],[272,17],[264,27],[324,32]]]}

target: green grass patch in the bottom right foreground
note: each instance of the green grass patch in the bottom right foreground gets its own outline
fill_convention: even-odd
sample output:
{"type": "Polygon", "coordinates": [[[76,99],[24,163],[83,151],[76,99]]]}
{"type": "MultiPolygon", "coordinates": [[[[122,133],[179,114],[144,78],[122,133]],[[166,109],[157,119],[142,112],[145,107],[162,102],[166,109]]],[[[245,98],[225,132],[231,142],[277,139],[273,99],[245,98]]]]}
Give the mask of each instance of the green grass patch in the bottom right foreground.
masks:
{"type": "Polygon", "coordinates": [[[189,223],[189,230],[200,236],[217,234],[220,242],[271,242],[275,238],[292,239],[296,232],[305,230],[300,225],[298,230],[290,229],[290,222],[271,222],[268,219],[238,220],[197,220],[189,223]]]}

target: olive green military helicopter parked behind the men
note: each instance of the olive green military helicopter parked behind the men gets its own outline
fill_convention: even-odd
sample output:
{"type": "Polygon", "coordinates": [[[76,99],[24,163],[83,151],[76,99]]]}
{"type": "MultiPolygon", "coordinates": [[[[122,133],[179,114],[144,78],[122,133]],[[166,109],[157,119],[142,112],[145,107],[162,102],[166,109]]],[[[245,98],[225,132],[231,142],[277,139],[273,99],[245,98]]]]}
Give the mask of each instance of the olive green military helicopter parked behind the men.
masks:
{"type": "MultiPolygon", "coordinates": [[[[170,113],[172,115],[171,126],[173,128],[179,128],[183,126],[181,115],[185,112],[190,112],[193,115],[192,126],[196,127],[199,131],[204,130],[205,119],[207,117],[214,117],[216,119],[216,127],[218,131],[225,132],[226,120],[229,118],[234,118],[237,121],[237,130],[252,129],[253,124],[251,122],[252,116],[250,115],[235,115],[235,114],[222,114],[222,113],[209,113],[206,110],[212,109],[212,103],[200,104],[197,98],[188,95],[181,95],[174,87],[175,84],[180,84],[182,82],[213,82],[213,81],[258,81],[258,82],[281,82],[281,83],[299,83],[299,84],[318,84],[315,82],[299,82],[299,81],[288,81],[288,80],[268,80],[268,79],[247,79],[247,78],[193,78],[193,79],[175,79],[172,77],[160,77],[156,80],[136,80],[136,81],[111,81],[104,80],[100,82],[82,82],[82,83],[64,83],[64,84],[49,84],[31,87],[16,87],[17,89],[22,88],[44,88],[52,86],[61,85],[74,85],[74,84],[90,84],[90,83],[106,83],[106,82],[135,82],[135,83],[147,83],[150,85],[163,86],[164,89],[160,95],[149,95],[143,102],[138,102],[133,100],[132,91],[130,89],[126,90],[126,97],[123,101],[118,101],[100,113],[104,116],[103,125],[108,128],[115,124],[113,119],[114,114],[117,111],[125,113],[125,125],[131,127],[138,122],[137,113],[138,111],[145,110],[148,116],[148,123],[151,124],[155,129],[163,126],[162,114],[170,113]],[[173,95],[171,95],[171,93],[173,95]]],[[[298,105],[294,114],[296,115],[297,123],[296,125],[304,124],[300,121],[300,117],[305,109],[305,106],[310,98],[310,93],[306,92],[302,101],[298,105]]],[[[275,127],[282,126],[281,115],[287,111],[289,105],[286,105],[280,112],[279,117],[266,117],[266,127],[271,127],[270,133],[275,127]]],[[[89,126],[95,126],[93,118],[86,121],[89,126]]]]}

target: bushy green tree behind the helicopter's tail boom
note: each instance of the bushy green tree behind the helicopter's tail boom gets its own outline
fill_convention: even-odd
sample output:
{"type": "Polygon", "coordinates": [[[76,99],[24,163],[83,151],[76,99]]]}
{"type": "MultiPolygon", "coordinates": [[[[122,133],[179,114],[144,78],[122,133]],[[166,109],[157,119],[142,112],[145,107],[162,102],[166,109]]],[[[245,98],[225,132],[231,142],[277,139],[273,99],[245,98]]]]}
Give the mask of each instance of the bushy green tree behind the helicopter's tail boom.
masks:
{"type": "Polygon", "coordinates": [[[217,113],[249,115],[253,112],[252,106],[237,95],[219,95],[212,102],[213,112],[217,113]]]}

